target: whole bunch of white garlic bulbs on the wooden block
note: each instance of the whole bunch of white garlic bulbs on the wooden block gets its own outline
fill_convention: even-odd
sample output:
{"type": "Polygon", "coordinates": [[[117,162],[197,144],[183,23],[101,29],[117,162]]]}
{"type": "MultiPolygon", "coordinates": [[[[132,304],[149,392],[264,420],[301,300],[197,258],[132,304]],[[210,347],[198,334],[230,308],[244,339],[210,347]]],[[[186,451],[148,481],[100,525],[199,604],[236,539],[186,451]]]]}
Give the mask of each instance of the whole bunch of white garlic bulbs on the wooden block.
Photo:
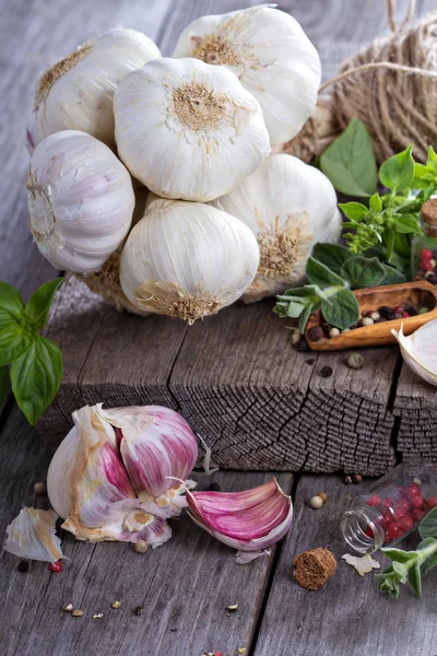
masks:
{"type": "Polygon", "coordinates": [[[299,284],[314,242],[338,237],[333,189],[269,155],[310,116],[319,81],[314,46],[269,5],[194,21],[174,58],[121,27],[88,42],[37,92],[39,250],[118,308],[189,323],[299,284]],[[139,184],[152,199],[132,222],[139,184]]]}

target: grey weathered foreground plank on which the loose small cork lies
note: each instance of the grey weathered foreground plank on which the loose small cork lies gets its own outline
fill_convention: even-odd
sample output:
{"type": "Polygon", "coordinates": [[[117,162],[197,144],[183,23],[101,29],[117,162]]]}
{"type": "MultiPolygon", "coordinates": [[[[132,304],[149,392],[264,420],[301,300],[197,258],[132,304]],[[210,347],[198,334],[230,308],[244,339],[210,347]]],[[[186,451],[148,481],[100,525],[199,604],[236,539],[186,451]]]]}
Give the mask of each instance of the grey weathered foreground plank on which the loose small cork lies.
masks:
{"type": "MultiPolygon", "coordinates": [[[[281,551],[255,656],[435,654],[437,572],[426,578],[422,599],[405,586],[397,601],[378,591],[373,574],[361,578],[341,560],[320,590],[306,590],[293,577],[293,559],[302,551],[324,547],[336,559],[351,552],[340,535],[340,516],[361,488],[346,487],[336,477],[304,476],[299,481],[294,525],[281,551]],[[329,502],[314,511],[308,501],[323,490],[329,502]]],[[[414,548],[413,542],[417,540],[410,538],[406,548],[414,548]]],[[[375,558],[388,565],[381,553],[375,558]]]]}

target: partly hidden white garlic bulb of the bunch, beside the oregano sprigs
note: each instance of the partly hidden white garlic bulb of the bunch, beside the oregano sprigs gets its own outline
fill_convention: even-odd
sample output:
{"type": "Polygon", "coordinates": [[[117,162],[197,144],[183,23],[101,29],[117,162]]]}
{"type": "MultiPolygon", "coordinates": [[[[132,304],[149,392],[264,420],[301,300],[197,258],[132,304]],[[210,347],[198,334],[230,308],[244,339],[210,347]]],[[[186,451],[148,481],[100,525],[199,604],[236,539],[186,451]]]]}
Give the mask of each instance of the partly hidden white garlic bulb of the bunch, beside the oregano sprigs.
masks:
{"type": "Polygon", "coordinates": [[[246,223],[258,239],[258,274],[243,300],[282,293],[305,279],[315,242],[336,242],[341,214],[329,179],[287,154],[271,155],[239,187],[212,201],[246,223]]]}

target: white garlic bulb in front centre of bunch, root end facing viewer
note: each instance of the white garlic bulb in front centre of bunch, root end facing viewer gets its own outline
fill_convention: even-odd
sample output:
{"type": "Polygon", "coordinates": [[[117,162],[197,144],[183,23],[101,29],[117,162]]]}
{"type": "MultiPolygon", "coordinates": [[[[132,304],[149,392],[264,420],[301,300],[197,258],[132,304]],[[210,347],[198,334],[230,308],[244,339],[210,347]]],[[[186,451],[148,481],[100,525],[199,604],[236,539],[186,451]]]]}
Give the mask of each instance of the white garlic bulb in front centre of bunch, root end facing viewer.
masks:
{"type": "Polygon", "coordinates": [[[269,154],[262,112],[234,73],[196,59],[155,59],[114,97],[118,153],[164,198],[208,201],[269,154]]]}

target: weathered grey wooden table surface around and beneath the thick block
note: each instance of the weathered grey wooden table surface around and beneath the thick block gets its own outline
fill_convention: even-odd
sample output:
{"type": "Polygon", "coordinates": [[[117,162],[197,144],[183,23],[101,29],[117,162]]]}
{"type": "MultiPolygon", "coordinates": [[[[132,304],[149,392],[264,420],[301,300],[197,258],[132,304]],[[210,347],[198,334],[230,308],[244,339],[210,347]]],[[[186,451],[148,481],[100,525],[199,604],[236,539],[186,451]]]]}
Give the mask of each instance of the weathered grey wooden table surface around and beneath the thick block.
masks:
{"type": "MultiPolygon", "coordinates": [[[[19,285],[27,298],[38,284],[55,274],[38,256],[26,230],[24,189],[28,159],[24,128],[37,73],[78,43],[117,24],[142,30],[158,43],[164,54],[169,54],[177,34],[193,17],[250,3],[248,0],[93,3],[3,0],[0,280],[19,285]]],[[[282,9],[300,21],[318,47],[324,78],[331,77],[338,62],[352,50],[377,32],[387,31],[382,4],[381,0],[280,2],[282,9]]],[[[398,4],[397,14],[401,17],[406,1],[398,4]]],[[[437,9],[436,0],[418,0],[417,9],[421,13],[437,9]]],[[[69,348],[74,354],[74,344],[69,348]]],[[[394,366],[392,355],[388,359],[387,366],[394,366]]],[[[187,371],[188,362],[180,361],[180,379],[187,371]]],[[[422,403],[421,388],[416,379],[409,378],[406,373],[404,376],[399,389],[403,389],[405,399],[414,397],[409,410],[410,423],[404,423],[403,433],[398,431],[399,420],[393,420],[393,425],[398,426],[398,440],[403,440],[398,447],[404,444],[408,448],[414,446],[415,435],[422,440],[429,433],[429,426],[425,430],[415,425],[415,413],[422,403]]],[[[401,413],[403,406],[402,396],[397,398],[394,415],[397,411],[401,413]]],[[[267,407],[273,412],[269,403],[267,399],[267,407]]],[[[432,408],[428,421],[435,426],[432,408]]],[[[389,436],[394,435],[392,426],[388,429],[389,436]]],[[[35,496],[33,488],[45,479],[52,445],[34,434],[11,401],[2,410],[0,432],[2,536],[23,504],[47,505],[47,500],[35,496]]],[[[202,487],[214,481],[222,489],[238,490],[259,484],[269,476],[269,472],[221,471],[211,479],[198,478],[202,487]]],[[[221,651],[224,656],[234,656],[245,647],[246,656],[435,656],[435,572],[424,585],[422,600],[406,589],[399,601],[386,598],[378,593],[371,575],[362,579],[344,562],[339,562],[335,576],[317,593],[296,585],[292,577],[296,553],[328,547],[339,558],[345,551],[339,535],[339,517],[359,487],[345,487],[335,476],[293,477],[282,472],[279,479],[293,494],[294,526],[269,559],[259,559],[250,565],[236,565],[228,548],[213,541],[187,517],[173,523],[170,542],[144,555],[137,554],[128,544],[86,544],[66,534],[62,547],[70,560],[63,562],[60,574],[50,573],[44,563],[31,563],[28,572],[21,573],[17,559],[2,552],[0,654],[201,656],[221,651]],[[314,511],[308,500],[322,490],[329,494],[329,503],[314,511]],[[117,610],[111,608],[116,599],[122,602],[117,610]],[[62,608],[70,602],[82,608],[84,617],[64,613],[62,608]],[[227,606],[235,604],[238,610],[228,612],[227,606]],[[142,611],[134,613],[137,607],[142,611]],[[93,614],[101,612],[102,618],[93,619],[93,614]]],[[[382,561],[381,557],[378,559],[382,561]]]]}

